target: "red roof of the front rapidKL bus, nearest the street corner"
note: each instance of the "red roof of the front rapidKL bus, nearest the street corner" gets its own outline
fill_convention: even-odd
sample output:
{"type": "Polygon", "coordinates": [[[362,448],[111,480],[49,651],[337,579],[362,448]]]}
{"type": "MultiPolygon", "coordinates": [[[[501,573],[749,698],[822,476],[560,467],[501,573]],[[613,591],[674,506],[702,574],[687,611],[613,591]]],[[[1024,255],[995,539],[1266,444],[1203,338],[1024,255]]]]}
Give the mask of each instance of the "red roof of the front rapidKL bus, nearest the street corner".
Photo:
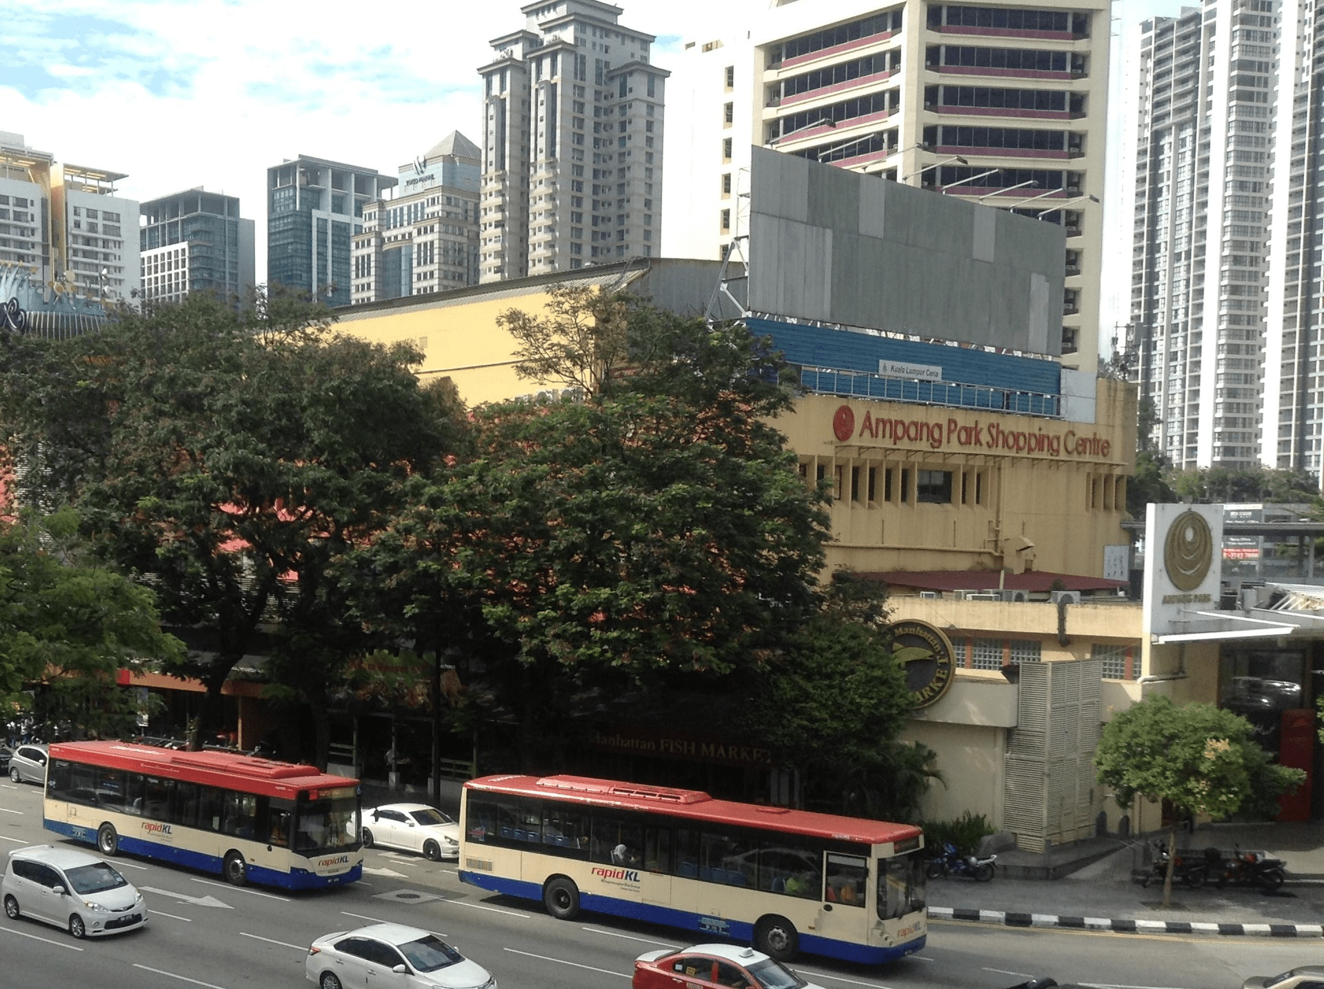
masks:
{"type": "Polygon", "coordinates": [[[647,786],[618,780],[594,780],[588,776],[483,776],[478,780],[470,780],[465,786],[489,793],[510,793],[621,810],[649,810],[667,817],[720,821],[722,824],[867,845],[900,842],[918,838],[923,833],[915,825],[870,821],[841,814],[820,814],[813,810],[790,810],[789,808],[763,804],[739,804],[731,800],[714,800],[703,790],[647,786]]]}

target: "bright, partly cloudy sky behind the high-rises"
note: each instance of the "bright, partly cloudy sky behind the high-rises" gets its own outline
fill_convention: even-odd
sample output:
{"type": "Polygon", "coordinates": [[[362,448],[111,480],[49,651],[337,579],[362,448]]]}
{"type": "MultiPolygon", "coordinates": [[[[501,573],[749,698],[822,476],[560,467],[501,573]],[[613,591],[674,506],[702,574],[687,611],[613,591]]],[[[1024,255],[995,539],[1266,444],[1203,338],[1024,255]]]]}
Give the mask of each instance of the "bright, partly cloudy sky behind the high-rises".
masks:
{"type": "MultiPolygon", "coordinates": [[[[714,37],[723,21],[757,17],[771,3],[617,0],[621,21],[655,34],[653,61],[673,70],[686,40],[714,37]]],[[[453,130],[479,143],[475,70],[491,60],[490,38],[522,26],[520,5],[0,0],[0,131],[21,134],[57,162],[124,173],[118,192],[139,201],[197,185],[238,196],[241,214],[257,224],[257,275],[265,281],[267,167],[302,154],[393,176],[453,130]]],[[[1113,4],[1115,93],[1133,78],[1119,40],[1143,19],[1180,8],[1176,0],[1113,4]]],[[[1120,167],[1111,163],[1123,160],[1125,118],[1113,101],[1112,233],[1123,196],[1113,189],[1120,167]]],[[[678,205],[667,204],[665,224],[678,205]]],[[[1128,281],[1124,270],[1120,281],[1106,278],[1128,281]]],[[[1124,306],[1117,291],[1106,291],[1103,326],[1124,306]]]]}

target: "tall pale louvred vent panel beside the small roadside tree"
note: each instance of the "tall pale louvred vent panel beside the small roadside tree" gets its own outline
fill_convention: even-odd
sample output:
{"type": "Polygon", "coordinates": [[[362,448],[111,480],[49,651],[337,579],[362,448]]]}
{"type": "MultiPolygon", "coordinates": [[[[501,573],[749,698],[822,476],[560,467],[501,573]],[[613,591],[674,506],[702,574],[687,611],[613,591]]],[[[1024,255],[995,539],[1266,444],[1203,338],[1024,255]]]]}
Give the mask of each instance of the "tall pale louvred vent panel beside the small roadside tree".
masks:
{"type": "Polygon", "coordinates": [[[1094,749],[1103,661],[1021,667],[1018,726],[1009,733],[1004,827],[1026,851],[1087,837],[1094,827],[1094,749]]]}

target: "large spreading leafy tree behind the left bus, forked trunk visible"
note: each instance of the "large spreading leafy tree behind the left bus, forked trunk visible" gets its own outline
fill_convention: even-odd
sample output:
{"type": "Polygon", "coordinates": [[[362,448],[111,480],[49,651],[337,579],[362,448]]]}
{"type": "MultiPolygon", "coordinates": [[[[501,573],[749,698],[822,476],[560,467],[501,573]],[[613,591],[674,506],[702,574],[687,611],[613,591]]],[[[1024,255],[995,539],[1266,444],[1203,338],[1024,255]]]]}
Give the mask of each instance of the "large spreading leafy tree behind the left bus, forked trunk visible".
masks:
{"type": "MultiPolygon", "coordinates": [[[[242,315],[191,295],[98,334],[7,343],[0,413],[30,496],[74,506],[167,621],[217,642],[172,666],[207,686],[193,744],[261,624],[332,628],[335,561],[454,432],[453,402],[418,385],[417,351],[334,335],[324,310],[283,295],[242,315]]],[[[303,686],[334,679],[332,653],[301,669],[303,686]]]]}

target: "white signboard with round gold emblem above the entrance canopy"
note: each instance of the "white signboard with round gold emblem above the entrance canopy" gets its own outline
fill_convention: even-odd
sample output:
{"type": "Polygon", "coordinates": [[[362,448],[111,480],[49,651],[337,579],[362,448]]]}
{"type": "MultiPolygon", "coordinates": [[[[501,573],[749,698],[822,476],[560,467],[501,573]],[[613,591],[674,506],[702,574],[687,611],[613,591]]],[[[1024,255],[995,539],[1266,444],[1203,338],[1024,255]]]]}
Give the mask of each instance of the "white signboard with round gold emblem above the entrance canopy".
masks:
{"type": "Polygon", "coordinates": [[[1193,632],[1218,608],[1223,506],[1151,504],[1145,516],[1144,624],[1151,636],[1193,632]]]}

